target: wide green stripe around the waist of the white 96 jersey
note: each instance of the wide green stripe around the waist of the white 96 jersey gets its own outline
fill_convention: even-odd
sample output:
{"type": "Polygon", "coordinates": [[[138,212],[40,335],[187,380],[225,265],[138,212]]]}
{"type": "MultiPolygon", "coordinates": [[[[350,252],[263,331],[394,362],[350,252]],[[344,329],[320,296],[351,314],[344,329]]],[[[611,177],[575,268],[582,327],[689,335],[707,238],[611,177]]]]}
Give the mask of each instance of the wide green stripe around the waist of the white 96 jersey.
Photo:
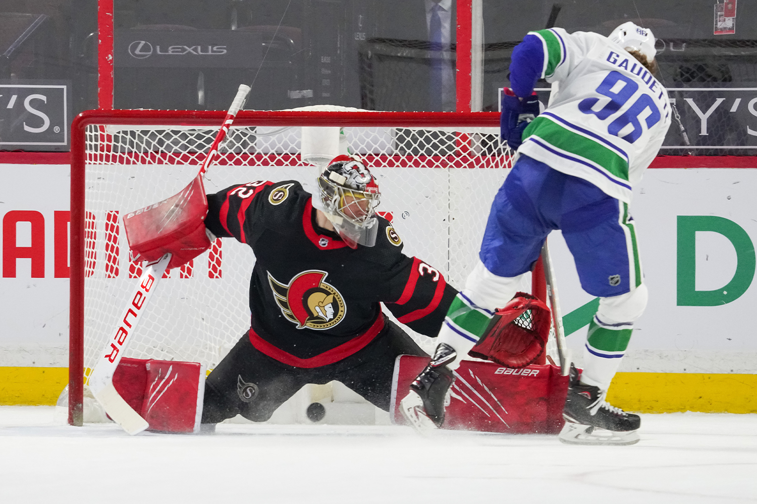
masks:
{"type": "Polygon", "coordinates": [[[563,128],[546,116],[538,116],[523,131],[523,139],[534,135],[559,149],[600,165],[611,175],[628,181],[628,162],[609,148],[591,138],[563,128]]]}

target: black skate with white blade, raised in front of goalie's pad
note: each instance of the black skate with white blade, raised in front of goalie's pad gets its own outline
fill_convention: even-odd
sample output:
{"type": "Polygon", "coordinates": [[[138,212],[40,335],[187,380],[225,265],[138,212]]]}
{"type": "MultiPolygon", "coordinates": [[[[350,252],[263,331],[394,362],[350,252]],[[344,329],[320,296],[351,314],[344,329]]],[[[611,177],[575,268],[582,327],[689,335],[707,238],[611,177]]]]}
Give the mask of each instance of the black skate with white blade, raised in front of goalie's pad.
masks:
{"type": "Polygon", "coordinates": [[[434,357],[410,384],[410,393],[400,401],[400,411],[416,430],[439,428],[444,422],[447,392],[455,381],[446,364],[456,357],[455,349],[446,343],[436,347],[434,357]]]}

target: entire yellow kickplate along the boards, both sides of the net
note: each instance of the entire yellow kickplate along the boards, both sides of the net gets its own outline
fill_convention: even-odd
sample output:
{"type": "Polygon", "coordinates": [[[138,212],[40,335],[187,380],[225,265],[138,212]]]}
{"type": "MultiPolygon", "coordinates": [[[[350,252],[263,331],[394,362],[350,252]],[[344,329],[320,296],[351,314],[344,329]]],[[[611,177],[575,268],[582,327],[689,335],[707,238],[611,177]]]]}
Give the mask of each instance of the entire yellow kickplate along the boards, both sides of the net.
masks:
{"type": "MultiPolygon", "coordinates": [[[[0,367],[0,405],[55,405],[67,383],[67,367],[0,367]]],[[[640,413],[757,413],[757,374],[618,373],[607,400],[640,413]]]]}

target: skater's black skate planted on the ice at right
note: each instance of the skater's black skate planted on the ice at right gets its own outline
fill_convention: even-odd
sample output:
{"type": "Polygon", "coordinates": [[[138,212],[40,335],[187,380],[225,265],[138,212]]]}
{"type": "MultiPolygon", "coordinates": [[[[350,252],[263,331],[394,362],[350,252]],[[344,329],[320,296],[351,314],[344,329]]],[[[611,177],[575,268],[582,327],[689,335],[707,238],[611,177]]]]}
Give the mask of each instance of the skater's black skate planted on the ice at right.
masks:
{"type": "Polygon", "coordinates": [[[568,398],[562,416],[565,427],[559,440],[567,444],[634,444],[639,441],[638,415],[625,413],[605,400],[606,391],[582,385],[571,365],[568,398]]]}

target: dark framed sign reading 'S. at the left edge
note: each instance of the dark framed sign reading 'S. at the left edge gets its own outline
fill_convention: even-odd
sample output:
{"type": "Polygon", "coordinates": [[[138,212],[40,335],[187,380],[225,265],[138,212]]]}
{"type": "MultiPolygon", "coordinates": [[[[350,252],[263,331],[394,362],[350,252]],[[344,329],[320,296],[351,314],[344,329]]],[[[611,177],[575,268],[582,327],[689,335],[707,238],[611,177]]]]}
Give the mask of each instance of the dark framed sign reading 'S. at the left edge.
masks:
{"type": "Polygon", "coordinates": [[[0,150],[68,150],[70,85],[50,82],[0,82],[0,150]]]}

